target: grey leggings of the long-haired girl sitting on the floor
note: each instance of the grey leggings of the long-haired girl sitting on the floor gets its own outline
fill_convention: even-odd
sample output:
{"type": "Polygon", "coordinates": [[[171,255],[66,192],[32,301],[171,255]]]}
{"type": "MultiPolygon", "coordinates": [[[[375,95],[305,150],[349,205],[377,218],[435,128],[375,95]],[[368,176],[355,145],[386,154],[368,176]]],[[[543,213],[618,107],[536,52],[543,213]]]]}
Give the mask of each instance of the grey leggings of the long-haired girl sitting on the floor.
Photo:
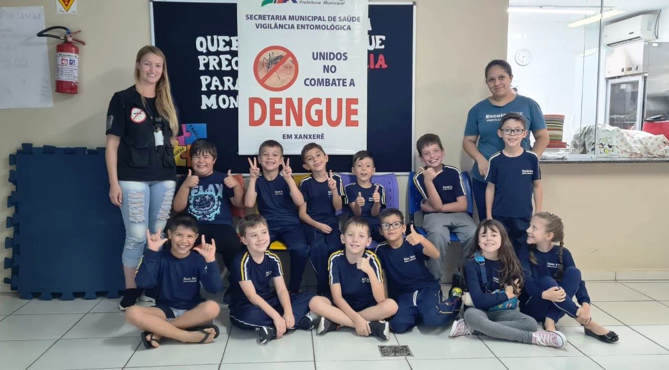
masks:
{"type": "Polygon", "coordinates": [[[535,319],[516,310],[483,311],[474,307],[464,311],[464,321],[475,332],[521,343],[532,343],[538,325],[535,319]]]}

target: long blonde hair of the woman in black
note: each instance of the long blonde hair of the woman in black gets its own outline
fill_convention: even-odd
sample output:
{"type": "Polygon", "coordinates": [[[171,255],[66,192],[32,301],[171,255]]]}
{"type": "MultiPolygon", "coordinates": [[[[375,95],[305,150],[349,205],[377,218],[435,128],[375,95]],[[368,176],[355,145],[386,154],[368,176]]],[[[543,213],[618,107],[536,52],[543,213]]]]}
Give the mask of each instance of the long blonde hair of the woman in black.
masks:
{"type": "MultiPolygon", "coordinates": [[[[156,83],[156,109],[158,114],[161,117],[166,118],[169,122],[169,128],[172,130],[172,136],[177,136],[179,133],[179,122],[177,120],[177,109],[174,106],[172,100],[172,90],[169,84],[169,77],[167,76],[167,59],[165,59],[165,54],[161,49],[153,46],[146,45],[137,51],[137,57],[135,59],[135,66],[139,61],[149,53],[153,53],[163,58],[163,74],[161,78],[156,83]]],[[[134,82],[139,83],[139,69],[135,67],[134,69],[134,82]]],[[[141,95],[141,94],[140,94],[141,95]]],[[[144,96],[142,96],[142,103],[147,106],[147,101],[144,96]]]]}

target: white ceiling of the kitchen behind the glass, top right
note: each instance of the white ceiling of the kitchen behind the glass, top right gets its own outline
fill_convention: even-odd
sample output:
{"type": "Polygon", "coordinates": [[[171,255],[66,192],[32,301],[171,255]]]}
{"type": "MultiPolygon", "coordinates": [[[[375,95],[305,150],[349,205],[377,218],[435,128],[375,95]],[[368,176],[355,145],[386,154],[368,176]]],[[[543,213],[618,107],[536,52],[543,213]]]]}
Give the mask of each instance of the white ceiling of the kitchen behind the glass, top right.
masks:
{"type": "MultiPolygon", "coordinates": [[[[541,5],[554,5],[561,7],[599,7],[599,0],[509,0],[509,6],[532,6],[539,7],[541,5]]],[[[606,19],[604,23],[611,23],[633,17],[634,15],[653,13],[662,8],[669,7],[669,0],[604,0],[604,7],[615,8],[625,13],[606,19]]],[[[516,13],[517,14],[517,13],[516,13]]],[[[533,18],[537,17],[547,18],[551,21],[564,21],[571,23],[579,19],[583,19],[583,15],[575,14],[535,14],[531,15],[533,18]]],[[[665,15],[669,17],[669,15],[665,15]]]]}

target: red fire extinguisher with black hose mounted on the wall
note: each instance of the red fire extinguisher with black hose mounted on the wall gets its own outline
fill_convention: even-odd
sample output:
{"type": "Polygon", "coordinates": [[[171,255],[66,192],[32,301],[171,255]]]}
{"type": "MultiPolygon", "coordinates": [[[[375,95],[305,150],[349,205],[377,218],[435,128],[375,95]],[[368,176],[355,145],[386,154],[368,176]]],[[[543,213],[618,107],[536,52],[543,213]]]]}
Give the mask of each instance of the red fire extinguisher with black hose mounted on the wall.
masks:
{"type": "Polygon", "coordinates": [[[81,31],[71,32],[67,27],[57,25],[37,33],[37,37],[54,37],[54,39],[64,40],[63,43],[56,45],[56,92],[65,94],[78,94],[79,92],[79,47],[74,43],[86,45],[84,41],[73,37],[79,32],[81,31]],[[63,36],[46,33],[52,29],[64,29],[66,33],[63,36]]]}

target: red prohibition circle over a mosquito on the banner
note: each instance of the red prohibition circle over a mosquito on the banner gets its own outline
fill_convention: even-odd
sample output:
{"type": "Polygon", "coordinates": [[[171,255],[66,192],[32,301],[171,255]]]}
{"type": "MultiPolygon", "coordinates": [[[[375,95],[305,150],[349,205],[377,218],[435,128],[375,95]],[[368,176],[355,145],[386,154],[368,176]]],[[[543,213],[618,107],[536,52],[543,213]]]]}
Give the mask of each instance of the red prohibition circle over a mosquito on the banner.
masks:
{"type": "Polygon", "coordinates": [[[297,58],[283,46],[273,45],[262,49],[254,61],[256,81],[270,91],[283,91],[292,86],[297,74],[297,58]]]}

